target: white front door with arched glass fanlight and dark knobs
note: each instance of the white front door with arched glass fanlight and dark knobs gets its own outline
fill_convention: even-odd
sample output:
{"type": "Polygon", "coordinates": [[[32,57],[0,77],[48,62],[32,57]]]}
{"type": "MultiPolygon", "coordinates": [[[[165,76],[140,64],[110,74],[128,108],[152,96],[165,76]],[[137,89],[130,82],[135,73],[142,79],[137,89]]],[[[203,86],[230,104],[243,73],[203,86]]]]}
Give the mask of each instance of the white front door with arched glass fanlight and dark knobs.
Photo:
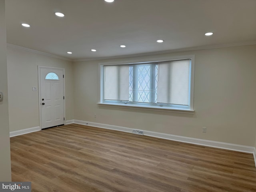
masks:
{"type": "Polygon", "coordinates": [[[42,129],[64,124],[63,70],[40,68],[42,129]]]}

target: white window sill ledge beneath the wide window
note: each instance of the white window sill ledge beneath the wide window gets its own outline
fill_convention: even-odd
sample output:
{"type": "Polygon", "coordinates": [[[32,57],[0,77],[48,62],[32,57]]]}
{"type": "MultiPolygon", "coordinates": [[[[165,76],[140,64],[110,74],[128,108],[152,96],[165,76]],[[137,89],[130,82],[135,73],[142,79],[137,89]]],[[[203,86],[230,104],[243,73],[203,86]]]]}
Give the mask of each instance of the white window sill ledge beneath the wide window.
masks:
{"type": "Polygon", "coordinates": [[[194,114],[194,110],[160,107],[160,106],[144,106],[144,105],[131,105],[131,104],[112,104],[112,103],[97,103],[99,106],[126,108],[126,109],[140,109],[140,110],[152,110],[152,111],[163,111],[163,112],[174,112],[174,113],[186,113],[194,114]]]}

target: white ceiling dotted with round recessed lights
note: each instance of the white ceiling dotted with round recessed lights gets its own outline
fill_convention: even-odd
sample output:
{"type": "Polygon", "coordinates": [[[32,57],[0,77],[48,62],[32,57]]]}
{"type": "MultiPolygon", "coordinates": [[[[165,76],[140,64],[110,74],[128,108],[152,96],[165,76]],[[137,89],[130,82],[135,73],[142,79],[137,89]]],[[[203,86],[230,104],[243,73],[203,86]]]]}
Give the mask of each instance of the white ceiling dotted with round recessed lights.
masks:
{"type": "Polygon", "coordinates": [[[6,0],[6,30],[9,44],[72,60],[253,44],[256,0],[6,0]]]}

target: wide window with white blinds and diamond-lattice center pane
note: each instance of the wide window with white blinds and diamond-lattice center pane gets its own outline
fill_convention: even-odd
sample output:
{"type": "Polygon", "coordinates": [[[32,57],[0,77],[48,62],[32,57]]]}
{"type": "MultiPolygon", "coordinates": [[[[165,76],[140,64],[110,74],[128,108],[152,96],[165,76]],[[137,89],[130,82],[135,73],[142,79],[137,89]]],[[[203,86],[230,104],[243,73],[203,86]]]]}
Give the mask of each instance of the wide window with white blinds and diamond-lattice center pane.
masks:
{"type": "Polygon", "coordinates": [[[192,109],[191,58],[102,65],[102,103],[192,109]]]}

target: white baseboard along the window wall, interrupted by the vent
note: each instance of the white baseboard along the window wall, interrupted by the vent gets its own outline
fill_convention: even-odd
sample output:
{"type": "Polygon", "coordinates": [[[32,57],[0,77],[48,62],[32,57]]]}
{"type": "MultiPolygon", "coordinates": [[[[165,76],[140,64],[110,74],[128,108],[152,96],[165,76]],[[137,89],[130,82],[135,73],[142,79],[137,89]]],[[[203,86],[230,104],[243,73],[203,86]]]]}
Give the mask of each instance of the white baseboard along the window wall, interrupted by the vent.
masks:
{"type": "MultiPolygon", "coordinates": [[[[114,126],[114,125],[88,122],[88,121],[80,121],[80,120],[74,120],[74,123],[132,133],[132,129],[127,128],[127,127],[114,126]]],[[[197,145],[203,145],[203,146],[209,146],[209,147],[215,147],[215,148],[228,149],[228,150],[233,150],[233,151],[252,153],[255,156],[254,160],[256,163],[255,147],[230,144],[230,143],[224,143],[224,142],[217,142],[217,141],[211,141],[211,140],[203,140],[203,139],[190,138],[190,137],[183,137],[183,136],[164,134],[164,133],[158,133],[158,132],[152,132],[152,131],[146,131],[146,130],[144,130],[144,135],[156,137],[156,138],[174,140],[174,141],[179,141],[179,142],[185,142],[185,143],[191,143],[191,144],[197,144],[197,145]]]]}

